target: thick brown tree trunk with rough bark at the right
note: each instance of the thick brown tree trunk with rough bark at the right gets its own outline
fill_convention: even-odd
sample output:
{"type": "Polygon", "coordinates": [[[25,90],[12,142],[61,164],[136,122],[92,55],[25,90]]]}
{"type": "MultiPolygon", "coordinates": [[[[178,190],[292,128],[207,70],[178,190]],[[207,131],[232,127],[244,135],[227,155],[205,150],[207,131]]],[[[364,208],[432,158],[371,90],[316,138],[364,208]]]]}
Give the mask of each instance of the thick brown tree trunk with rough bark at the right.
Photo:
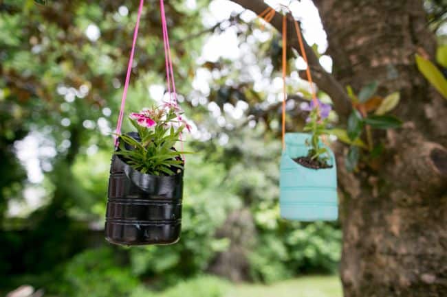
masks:
{"type": "Polygon", "coordinates": [[[345,297],[447,296],[447,101],[415,67],[431,57],[422,0],[317,0],[334,75],[357,91],[400,91],[400,130],[378,135],[378,169],[349,174],[339,156],[345,297]]]}

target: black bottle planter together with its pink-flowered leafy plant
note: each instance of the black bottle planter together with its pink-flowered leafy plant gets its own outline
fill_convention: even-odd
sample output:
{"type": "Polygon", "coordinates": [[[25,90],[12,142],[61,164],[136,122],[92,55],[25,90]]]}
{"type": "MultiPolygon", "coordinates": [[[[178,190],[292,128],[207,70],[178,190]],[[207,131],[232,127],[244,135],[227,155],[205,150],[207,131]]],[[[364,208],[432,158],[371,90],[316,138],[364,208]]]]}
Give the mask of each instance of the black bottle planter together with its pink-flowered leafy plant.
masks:
{"type": "Polygon", "coordinates": [[[129,246],[178,241],[182,219],[184,152],[175,150],[184,128],[176,104],[129,119],[137,132],[118,135],[109,178],[105,236],[129,246]]]}

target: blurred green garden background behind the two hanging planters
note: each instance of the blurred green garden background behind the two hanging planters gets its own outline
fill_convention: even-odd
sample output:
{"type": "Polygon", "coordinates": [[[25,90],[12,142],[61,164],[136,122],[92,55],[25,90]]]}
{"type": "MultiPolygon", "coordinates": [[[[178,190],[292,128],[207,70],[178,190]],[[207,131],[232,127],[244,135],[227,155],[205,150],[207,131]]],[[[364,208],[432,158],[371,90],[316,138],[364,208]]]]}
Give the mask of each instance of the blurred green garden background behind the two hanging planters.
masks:
{"type": "MultiPolygon", "coordinates": [[[[124,248],[105,241],[103,225],[138,1],[0,1],[1,294],[341,296],[338,223],[279,219],[281,36],[230,1],[166,2],[195,152],[182,239],[124,248]]],[[[308,30],[330,60],[323,28],[308,30]]],[[[158,2],[147,0],[126,112],[161,102],[161,37],[158,2]]],[[[302,61],[290,54],[289,65],[288,91],[306,97],[302,61]]],[[[287,108],[299,130],[305,115],[287,108]]]]}

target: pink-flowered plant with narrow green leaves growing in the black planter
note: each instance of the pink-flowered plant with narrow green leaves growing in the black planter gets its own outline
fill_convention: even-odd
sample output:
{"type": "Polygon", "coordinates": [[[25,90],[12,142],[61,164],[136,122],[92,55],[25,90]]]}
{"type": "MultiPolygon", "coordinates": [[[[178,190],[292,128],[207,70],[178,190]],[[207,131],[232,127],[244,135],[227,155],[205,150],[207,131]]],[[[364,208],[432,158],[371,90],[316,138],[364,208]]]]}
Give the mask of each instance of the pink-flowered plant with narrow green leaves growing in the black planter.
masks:
{"type": "Polygon", "coordinates": [[[139,139],[120,134],[116,155],[142,174],[171,176],[184,168],[185,152],[173,148],[184,128],[190,130],[182,119],[182,110],[175,104],[163,104],[140,113],[132,112],[129,120],[139,139]]]}

